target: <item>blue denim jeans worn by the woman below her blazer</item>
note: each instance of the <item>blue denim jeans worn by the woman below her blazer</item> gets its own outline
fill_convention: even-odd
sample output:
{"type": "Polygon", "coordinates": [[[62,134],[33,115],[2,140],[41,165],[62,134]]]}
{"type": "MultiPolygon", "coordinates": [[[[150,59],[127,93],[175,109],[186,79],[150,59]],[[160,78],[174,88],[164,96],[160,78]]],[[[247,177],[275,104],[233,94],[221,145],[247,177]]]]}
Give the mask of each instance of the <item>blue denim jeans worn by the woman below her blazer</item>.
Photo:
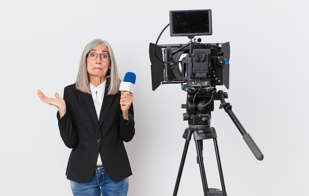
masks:
{"type": "Polygon", "coordinates": [[[79,183],[71,180],[74,196],[126,196],[129,189],[129,179],[111,180],[103,165],[97,166],[89,182],[79,183]]]}

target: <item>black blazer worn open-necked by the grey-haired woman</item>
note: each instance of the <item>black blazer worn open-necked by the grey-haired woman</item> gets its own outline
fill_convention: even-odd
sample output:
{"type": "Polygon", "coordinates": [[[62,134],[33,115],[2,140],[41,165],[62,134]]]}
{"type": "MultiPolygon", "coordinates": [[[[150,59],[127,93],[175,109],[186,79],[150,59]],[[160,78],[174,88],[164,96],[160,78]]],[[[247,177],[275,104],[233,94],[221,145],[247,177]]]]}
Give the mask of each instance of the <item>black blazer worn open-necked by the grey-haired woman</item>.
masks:
{"type": "Polygon", "coordinates": [[[133,105],[129,119],[123,119],[120,109],[120,93],[107,95],[107,82],[100,120],[98,120],[92,96],[75,88],[64,89],[66,114],[60,119],[57,113],[60,135],[65,145],[72,148],[66,175],[77,182],[88,182],[93,176],[98,154],[109,177],[118,181],[132,175],[123,141],[130,141],[135,133],[133,105]]]}

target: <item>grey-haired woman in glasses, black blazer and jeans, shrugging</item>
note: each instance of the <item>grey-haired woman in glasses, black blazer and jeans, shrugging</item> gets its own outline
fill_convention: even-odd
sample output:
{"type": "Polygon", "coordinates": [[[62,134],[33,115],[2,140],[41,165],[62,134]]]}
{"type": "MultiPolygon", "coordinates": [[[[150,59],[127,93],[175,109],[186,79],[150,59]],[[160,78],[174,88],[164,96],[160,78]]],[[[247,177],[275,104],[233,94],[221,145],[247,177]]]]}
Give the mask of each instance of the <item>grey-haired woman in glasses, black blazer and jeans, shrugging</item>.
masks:
{"type": "Polygon", "coordinates": [[[126,196],[132,175],[123,141],[135,133],[133,95],[119,92],[113,50],[95,39],[82,53],[75,84],[64,89],[63,99],[39,98],[58,108],[60,135],[72,148],[67,166],[74,196],[126,196]]]}

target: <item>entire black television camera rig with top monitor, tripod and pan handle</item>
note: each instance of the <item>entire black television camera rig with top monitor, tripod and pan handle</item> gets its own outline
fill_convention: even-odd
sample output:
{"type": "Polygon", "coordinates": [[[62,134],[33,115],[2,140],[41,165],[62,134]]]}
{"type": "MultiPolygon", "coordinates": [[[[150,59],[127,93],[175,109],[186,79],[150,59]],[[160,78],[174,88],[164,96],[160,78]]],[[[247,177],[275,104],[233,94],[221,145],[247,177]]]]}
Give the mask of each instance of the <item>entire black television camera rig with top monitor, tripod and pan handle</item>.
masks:
{"type": "Polygon", "coordinates": [[[194,136],[197,162],[200,167],[204,196],[226,196],[225,183],[219,156],[217,135],[214,127],[210,126],[211,112],[214,110],[214,100],[220,100],[220,109],[232,118],[243,139],[258,160],[263,154],[250,135],[242,127],[232,112],[230,103],[225,102],[228,94],[219,90],[216,85],[225,85],[229,89],[230,72],[230,43],[202,43],[195,36],[212,35],[211,9],[176,10],[169,12],[169,24],[161,31],[155,43],[150,43],[152,88],[160,84],[181,83],[187,92],[187,102],[182,105],[187,113],[183,119],[188,120],[189,127],[185,129],[183,138],[186,139],[173,196],[177,195],[180,178],[189,147],[191,136],[194,136]],[[186,44],[160,44],[158,40],[164,30],[170,26],[170,36],[187,36],[186,44]],[[210,189],[207,186],[205,169],[202,158],[202,141],[213,139],[216,151],[222,191],[210,189]]]}

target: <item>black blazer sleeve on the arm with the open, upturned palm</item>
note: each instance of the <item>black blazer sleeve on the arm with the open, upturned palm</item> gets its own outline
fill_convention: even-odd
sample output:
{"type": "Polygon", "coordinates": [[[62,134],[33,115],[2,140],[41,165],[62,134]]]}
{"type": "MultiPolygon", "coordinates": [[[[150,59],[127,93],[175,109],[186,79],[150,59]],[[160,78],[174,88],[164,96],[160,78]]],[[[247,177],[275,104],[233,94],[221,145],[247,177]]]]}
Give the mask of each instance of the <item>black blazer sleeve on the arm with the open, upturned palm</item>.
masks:
{"type": "Polygon", "coordinates": [[[71,114],[71,102],[66,88],[64,89],[63,99],[66,102],[67,112],[62,118],[60,118],[59,112],[57,112],[60,135],[68,148],[74,148],[78,143],[77,126],[74,116],[71,114]]]}

